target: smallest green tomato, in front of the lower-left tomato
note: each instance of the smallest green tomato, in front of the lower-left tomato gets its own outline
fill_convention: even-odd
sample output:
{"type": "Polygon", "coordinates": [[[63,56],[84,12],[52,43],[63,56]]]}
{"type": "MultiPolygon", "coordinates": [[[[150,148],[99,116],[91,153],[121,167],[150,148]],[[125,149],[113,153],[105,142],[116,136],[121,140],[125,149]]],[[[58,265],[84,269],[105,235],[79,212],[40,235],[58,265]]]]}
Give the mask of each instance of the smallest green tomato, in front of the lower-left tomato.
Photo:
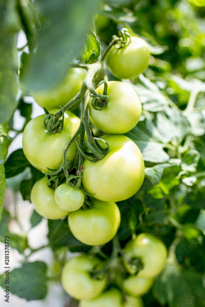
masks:
{"type": "Polygon", "coordinates": [[[54,197],[57,205],[65,211],[75,211],[81,208],[85,199],[80,189],[75,189],[66,183],[57,187],[54,197]]]}

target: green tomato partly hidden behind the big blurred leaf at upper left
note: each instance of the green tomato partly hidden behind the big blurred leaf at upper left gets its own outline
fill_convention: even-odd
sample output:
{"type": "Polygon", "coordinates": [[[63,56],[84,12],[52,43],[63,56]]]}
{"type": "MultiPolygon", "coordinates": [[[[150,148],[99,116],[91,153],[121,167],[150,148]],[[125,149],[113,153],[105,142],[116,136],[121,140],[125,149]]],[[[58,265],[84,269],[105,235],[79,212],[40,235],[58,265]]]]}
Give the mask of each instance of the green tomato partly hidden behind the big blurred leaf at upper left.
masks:
{"type": "MultiPolygon", "coordinates": [[[[56,87],[47,91],[36,91],[33,94],[35,101],[41,107],[46,107],[48,110],[65,106],[81,89],[83,80],[85,78],[85,71],[82,68],[70,68],[64,79],[57,84],[56,87]]],[[[75,102],[69,111],[76,109],[80,100],[75,102]]]]}

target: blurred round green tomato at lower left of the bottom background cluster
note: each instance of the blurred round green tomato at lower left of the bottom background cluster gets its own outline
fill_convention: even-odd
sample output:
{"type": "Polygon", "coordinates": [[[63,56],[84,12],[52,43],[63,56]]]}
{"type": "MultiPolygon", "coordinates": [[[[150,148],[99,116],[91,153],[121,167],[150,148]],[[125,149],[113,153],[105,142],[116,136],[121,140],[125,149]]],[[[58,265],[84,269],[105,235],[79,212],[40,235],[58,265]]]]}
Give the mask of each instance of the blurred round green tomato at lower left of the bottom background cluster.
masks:
{"type": "Polygon", "coordinates": [[[101,269],[103,262],[87,255],[74,256],[65,263],[61,283],[66,293],[77,300],[90,300],[102,293],[106,279],[93,279],[89,271],[101,269]]]}

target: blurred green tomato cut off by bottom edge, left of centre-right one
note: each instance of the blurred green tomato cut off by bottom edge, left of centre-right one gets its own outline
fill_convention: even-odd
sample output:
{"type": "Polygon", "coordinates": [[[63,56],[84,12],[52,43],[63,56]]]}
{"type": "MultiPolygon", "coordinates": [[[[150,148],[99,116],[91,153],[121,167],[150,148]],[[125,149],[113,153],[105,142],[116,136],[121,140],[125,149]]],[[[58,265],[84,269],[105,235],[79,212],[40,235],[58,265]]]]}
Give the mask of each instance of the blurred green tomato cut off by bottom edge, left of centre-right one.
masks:
{"type": "Polygon", "coordinates": [[[105,291],[92,300],[82,300],[79,307],[123,307],[122,295],[117,289],[105,291]]]}

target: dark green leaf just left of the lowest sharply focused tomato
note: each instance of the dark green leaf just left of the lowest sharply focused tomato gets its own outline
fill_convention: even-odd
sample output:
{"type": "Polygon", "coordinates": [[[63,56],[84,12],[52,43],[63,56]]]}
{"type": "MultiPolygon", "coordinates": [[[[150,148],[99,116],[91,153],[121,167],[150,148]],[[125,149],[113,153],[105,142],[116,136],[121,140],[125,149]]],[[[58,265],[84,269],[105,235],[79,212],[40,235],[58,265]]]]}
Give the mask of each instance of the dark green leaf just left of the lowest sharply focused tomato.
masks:
{"type": "Polygon", "coordinates": [[[78,241],[71,233],[68,220],[48,220],[48,238],[53,249],[68,246],[83,246],[84,243],[78,241]]]}

